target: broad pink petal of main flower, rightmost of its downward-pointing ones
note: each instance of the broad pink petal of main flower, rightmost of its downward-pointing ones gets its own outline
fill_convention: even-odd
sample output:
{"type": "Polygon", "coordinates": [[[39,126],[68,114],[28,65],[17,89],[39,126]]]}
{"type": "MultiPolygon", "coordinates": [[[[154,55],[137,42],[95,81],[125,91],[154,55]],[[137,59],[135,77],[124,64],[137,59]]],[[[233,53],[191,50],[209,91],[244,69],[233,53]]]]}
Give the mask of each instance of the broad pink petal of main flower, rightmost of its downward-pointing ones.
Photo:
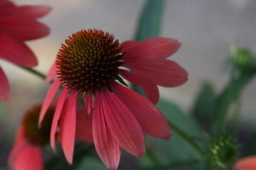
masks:
{"type": "Polygon", "coordinates": [[[143,132],[156,138],[169,139],[170,127],[161,111],[145,97],[131,89],[113,83],[115,95],[132,112],[141,125],[143,132]]]}

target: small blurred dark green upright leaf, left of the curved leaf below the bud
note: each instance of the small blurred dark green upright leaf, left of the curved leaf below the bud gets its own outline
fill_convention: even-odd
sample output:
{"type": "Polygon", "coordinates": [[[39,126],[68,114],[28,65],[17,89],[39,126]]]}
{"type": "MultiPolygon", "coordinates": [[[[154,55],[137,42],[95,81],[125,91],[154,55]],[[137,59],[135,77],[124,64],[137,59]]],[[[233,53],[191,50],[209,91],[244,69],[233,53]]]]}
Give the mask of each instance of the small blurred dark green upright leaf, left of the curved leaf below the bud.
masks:
{"type": "Polygon", "coordinates": [[[192,109],[193,116],[203,127],[211,127],[216,117],[214,114],[215,95],[211,83],[205,82],[200,88],[192,109]]]}

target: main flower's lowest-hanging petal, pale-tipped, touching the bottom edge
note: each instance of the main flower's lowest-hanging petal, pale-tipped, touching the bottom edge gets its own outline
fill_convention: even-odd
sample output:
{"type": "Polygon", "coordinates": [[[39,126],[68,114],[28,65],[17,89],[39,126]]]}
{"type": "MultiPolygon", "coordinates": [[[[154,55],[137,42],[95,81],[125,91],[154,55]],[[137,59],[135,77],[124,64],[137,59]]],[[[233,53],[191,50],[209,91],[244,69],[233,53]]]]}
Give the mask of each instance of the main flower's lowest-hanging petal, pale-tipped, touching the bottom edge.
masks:
{"type": "Polygon", "coordinates": [[[102,99],[98,93],[95,96],[95,111],[93,111],[92,125],[93,141],[100,159],[109,169],[117,169],[121,150],[109,130],[106,118],[104,117],[102,99]]]}

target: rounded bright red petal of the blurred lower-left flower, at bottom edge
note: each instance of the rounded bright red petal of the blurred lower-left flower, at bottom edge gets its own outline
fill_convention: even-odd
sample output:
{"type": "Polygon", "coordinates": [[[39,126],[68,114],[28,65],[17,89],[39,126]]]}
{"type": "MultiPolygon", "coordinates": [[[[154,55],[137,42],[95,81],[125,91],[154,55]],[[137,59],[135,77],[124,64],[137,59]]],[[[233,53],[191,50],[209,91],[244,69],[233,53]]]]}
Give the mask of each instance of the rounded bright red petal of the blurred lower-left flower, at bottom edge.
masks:
{"type": "Polygon", "coordinates": [[[13,162],[15,170],[43,170],[44,162],[40,146],[27,143],[13,162]]]}

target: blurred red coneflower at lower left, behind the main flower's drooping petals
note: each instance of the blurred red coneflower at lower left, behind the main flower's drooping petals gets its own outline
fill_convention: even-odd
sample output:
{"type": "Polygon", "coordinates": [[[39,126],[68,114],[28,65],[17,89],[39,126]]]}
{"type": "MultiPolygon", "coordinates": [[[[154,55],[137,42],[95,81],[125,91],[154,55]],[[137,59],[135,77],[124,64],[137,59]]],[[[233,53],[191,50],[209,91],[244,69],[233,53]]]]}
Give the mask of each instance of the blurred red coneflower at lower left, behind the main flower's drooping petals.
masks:
{"type": "MultiPolygon", "coordinates": [[[[45,115],[42,127],[38,129],[41,105],[36,105],[24,115],[16,141],[9,156],[13,170],[43,170],[42,147],[49,144],[54,108],[51,106],[45,115]]],[[[77,110],[76,139],[92,143],[92,118],[83,117],[84,109],[77,110]],[[85,130],[86,129],[86,130],[85,130]]],[[[65,113],[63,114],[65,115],[65,113]]],[[[58,134],[61,139],[61,132],[58,134]]]]}

